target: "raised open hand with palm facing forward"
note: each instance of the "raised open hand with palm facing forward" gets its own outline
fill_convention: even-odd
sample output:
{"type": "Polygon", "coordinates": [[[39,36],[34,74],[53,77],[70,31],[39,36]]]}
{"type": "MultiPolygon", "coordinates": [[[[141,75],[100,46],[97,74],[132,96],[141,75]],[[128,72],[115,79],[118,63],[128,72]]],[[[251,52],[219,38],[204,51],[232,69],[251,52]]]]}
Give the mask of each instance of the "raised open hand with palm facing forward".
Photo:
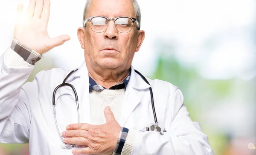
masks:
{"type": "Polygon", "coordinates": [[[68,35],[50,38],[47,31],[50,16],[50,0],[30,0],[25,19],[22,19],[23,5],[17,7],[14,38],[30,49],[44,54],[64,44],[68,35]]]}

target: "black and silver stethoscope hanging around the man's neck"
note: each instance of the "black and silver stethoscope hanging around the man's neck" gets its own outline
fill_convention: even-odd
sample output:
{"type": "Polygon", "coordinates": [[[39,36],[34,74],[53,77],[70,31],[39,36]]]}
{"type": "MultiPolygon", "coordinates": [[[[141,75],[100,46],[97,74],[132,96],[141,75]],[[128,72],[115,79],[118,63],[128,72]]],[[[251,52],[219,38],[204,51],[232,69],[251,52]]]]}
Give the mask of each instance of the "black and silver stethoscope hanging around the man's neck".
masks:
{"type": "MultiPolygon", "coordinates": [[[[55,94],[56,94],[56,91],[62,87],[62,86],[68,86],[68,87],[71,87],[74,94],[75,94],[75,101],[76,101],[76,109],[77,109],[77,123],[79,123],[79,119],[80,119],[80,114],[79,114],[79,102],[78,102],[78,96],[77,96],[77,93],[76,93],[76,89],[73,85],[69,84],[69,83],[66,83],[67,79],[70,77],[71,74],[73,74],[75,71],[77,71],[77,69],[75,70],[72,70],[66,77],[65,79],[63,80],[62,84],[58,85],[54,91],[53,91],[53,95],[52,95],[52,105],[53,105],[53,114],[54,114],[54,120],[55,120],[55,125],[56,125],[56,128],[58,130],[58,134],[59,134],[59,137],[61,138],[61,141],[63,143],[63,145],[61,145],[62,148],[68,148],[68,149],[71,149],[71,148],[74,148],[76,147],[76,145],[67,145],[64,140],[63,140],[63,137],[61,135],[61,132],[58,128],[58,122],[57,122],[57,118],[56,118],[56,104],[55,104],[55,94]]],[[[137,70],[134,70],[137,74],[139,74],[141,76],[141,78],[148,84],[148,80],[137,70]]],[[[158,122],[157,122],[157,115],[156,115],[156,111],[155,111],[155,107],[154,107],[154,97],[153,97],[153,91],[152,91],[152,88],[151,88],[151,85],[150,87],[148,88],[149,89],[149,92],[150,92],[150,96],[151,96],[151,105],[152,105],[152,110],[153,110],[153,115],[154,115],[154,122],[155,124],[151,125],[150,127],[147,127],[146,128],[146,131],[155,131],[155,132],[158,132],[160,133],[160,135],[164,135],[164,132],[166,132],[166,130],[162,130],[161,127],[158,126],[158,122]]]]}

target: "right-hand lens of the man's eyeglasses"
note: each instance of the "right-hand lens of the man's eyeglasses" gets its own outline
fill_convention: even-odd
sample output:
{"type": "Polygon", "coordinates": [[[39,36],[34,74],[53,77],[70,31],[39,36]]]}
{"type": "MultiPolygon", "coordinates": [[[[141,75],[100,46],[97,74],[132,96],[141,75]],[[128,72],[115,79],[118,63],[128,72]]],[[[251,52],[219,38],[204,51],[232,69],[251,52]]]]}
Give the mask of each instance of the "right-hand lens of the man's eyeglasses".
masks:
{"type": "Polygon", "coordinates": [[[133,23],[130,18],[121,17],[115,21],[115,25],[116,25],[117,31],[121,33],[128,33],[131,31],[133,23]]]}

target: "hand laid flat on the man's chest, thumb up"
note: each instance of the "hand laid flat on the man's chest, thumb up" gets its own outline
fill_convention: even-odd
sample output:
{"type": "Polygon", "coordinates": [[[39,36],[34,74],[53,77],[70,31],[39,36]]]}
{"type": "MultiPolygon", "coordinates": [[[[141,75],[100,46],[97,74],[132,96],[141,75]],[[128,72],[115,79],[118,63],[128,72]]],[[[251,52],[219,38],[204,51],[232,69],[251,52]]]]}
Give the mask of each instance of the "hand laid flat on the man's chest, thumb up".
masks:
{"type": "Polygon", "coordinates": [[[62,132],[65,143],[87,146],[72,150],[74,155],[112,155],[121,126],[109,106],[105,107],[104,113],[105,124],[70,124],[67,126],[67,131],[62,132]]]}

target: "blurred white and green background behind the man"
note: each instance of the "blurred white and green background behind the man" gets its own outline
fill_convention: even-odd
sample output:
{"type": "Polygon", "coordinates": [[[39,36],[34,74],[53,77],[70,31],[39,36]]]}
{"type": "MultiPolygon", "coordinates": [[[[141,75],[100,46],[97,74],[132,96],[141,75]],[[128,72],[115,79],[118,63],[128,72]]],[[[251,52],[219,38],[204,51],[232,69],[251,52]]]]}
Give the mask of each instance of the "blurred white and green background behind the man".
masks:
{"type": "MultiPolygon", "coordinates": [[[[71,40],[44,55],[40,70],[78,68],[76,36],[86,0],[51,0],[49,35],[71,40]]],[[[0,54],[11,44],[16,6],[0,2],[0,54]]],[[[145,40],[133,66],[145,76],[180,87],[193,121],[215,155],[256,155],[256,1],[138,0],[145,40]]],[[[25,11],[24,11],[25,12],[25,11]]],[[[28,155],[28,144],[0,144],[0,155],[28,155]]]]}

